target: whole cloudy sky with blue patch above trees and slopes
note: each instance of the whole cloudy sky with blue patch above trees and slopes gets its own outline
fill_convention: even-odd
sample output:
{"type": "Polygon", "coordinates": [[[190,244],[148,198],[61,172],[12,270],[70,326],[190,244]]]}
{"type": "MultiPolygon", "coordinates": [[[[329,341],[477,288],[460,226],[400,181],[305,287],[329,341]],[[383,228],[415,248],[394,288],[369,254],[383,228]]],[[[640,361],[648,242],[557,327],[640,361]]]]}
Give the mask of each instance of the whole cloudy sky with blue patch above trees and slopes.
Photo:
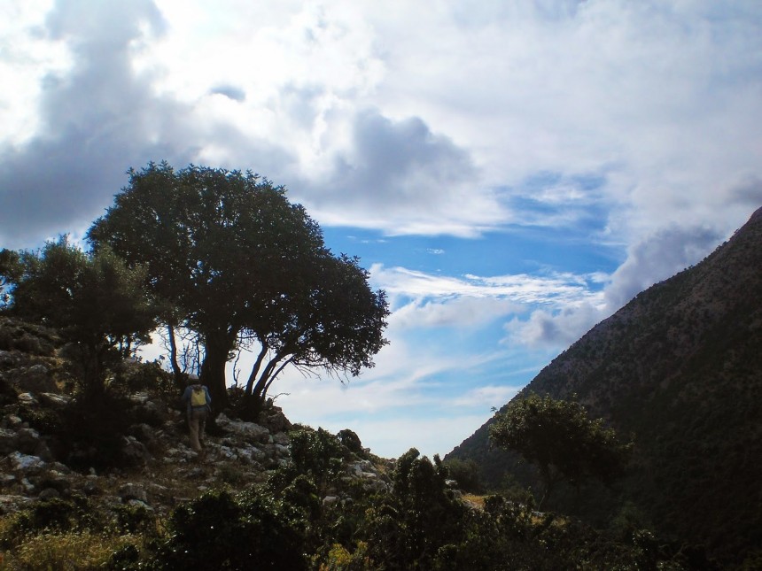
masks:
{"type": "Polygon", "coordinates": [[[81,240],[166,159],[284,185],[359,256],[376,366],[272,393],[389,458],[447,454],[762,206],[758,0],[0,0],[0,85],[0,248],[81,240]]]}

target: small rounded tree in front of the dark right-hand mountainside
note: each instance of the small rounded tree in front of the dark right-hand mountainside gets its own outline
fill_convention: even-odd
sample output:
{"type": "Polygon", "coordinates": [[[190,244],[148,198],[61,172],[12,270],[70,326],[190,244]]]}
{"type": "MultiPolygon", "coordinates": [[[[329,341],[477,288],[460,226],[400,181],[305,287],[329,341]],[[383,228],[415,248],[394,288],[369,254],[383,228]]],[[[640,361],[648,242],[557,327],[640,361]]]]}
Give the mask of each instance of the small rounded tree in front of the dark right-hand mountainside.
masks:
{"type": "Polygon", "coordinates": [[[624,470],[632,444],[621,444],[603,419],[587,417],[576,400],[535,394],[514,400],[489,428],[492,443],[516,451],[540,470],[543,505],[558,482],[587,478],[611,482],[624,470]]]}

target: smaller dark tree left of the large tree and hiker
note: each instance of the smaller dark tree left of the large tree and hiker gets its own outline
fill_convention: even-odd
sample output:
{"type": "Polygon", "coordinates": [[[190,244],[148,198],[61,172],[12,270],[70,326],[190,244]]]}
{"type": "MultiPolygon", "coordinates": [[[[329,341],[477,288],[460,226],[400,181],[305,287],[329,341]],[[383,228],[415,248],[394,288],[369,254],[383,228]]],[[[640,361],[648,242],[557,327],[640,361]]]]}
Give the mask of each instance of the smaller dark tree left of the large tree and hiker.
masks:
{"type": "Polygon", "coordinates": [[[107,248],[88,254],[66,236],[39,252],[20,252],[9,311],[58,328],[82,367],[86,398],[105,390],[106,368],[148,340],[155,327],[141,268],[107,248]]]}

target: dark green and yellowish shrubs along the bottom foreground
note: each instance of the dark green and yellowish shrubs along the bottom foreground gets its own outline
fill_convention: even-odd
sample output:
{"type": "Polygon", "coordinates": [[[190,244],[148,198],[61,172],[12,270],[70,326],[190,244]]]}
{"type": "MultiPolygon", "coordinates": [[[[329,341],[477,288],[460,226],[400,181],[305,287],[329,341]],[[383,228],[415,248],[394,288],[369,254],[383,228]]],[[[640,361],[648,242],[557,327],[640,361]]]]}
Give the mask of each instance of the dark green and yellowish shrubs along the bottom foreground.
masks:
{"type": "MultiPolygon", "coordinates": [[[[292,463],[264,482],[218,482],[167,515],[97,496],[36,501],[0,517],[0,568],[702,568],[628,521],[596,531],[500,495],[475,507],[438,457],[415,449],[397,460],[391,488],[365,489],[346,478],[343,463],[358,456],[343,432],[297,427],[292,463]],[[325,497],[329,489],[340,494],[325,497]]],[[[367,451],[362,458],[378,460],[367,451]]]]}

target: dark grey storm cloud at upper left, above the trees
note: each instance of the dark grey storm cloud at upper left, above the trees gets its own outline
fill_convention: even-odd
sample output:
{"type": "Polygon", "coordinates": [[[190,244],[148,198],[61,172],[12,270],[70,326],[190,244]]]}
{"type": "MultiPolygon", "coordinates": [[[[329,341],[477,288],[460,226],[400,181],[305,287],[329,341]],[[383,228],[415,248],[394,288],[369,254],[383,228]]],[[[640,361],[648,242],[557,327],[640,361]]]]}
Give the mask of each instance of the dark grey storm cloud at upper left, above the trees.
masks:
{"type": "Polygon", "coordinates": [[[73,66],[43,82],[42,127],[22,147],[0,148],[0,244],[26,247],[87,226],[112,203],[129,166],[187,162],[180,106],[151,95],[130,50],[165,26],[151,2],[59,0],[46,22],[73,66]]]}

